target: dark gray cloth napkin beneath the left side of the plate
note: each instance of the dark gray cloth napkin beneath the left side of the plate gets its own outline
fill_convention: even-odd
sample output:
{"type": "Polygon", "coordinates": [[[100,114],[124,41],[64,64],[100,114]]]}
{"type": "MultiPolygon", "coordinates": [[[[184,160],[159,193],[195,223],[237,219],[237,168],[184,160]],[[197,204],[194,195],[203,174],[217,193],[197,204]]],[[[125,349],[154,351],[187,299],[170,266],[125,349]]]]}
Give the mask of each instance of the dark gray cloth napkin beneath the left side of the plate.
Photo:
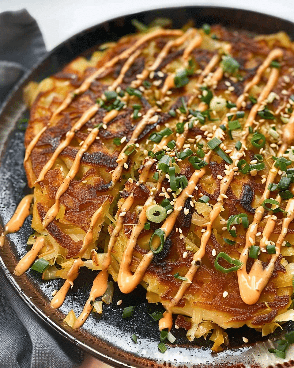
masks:
{"type": "MultiPolygon", "coordinates": [[[[19,78],[46,53],[26,10],[0,14],[0,105],[19,78]]],[[[0,368],[71,368],[83,353],[42,321],[0,271],[0,368]]]]}

